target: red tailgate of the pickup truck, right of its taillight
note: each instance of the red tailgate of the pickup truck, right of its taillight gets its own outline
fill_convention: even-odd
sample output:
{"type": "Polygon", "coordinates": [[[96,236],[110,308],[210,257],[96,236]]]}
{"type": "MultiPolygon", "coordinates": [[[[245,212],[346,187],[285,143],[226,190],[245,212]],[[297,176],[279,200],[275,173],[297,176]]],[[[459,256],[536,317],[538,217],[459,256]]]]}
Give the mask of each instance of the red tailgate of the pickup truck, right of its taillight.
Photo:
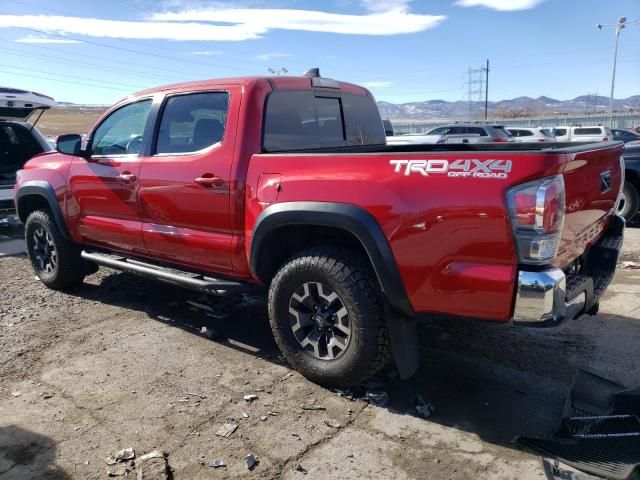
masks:
{"type": "Polygon", "coordinates": [[[622,185],[623,148],[620,142],[607,142],[566,153],[566,216],[556,266],[575,260],[606,228],[622,185]]]}

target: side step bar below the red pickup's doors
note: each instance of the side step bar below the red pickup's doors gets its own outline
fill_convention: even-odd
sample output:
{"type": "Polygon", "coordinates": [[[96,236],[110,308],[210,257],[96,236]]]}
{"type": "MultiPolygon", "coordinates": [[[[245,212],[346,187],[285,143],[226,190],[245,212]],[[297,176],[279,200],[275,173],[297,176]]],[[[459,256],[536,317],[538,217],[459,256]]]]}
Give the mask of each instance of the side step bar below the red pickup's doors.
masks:
{"type": "Polygon", "coordinates": [[[179,285],[199,292],[212,293],[214,295],[223,295],[232,290],[239,290],[245,286],[245,284],[240,282],[221,280],[218,278],[207,277],[200,273],[153,265],[151,263],[142,262],[117,254],[89,252],[83,250],[81,256],[85,260],[97,263],[101,266],[122,270],[124,272],[133,273],[153,280],[160,280],[166,283],[179,285]]]}

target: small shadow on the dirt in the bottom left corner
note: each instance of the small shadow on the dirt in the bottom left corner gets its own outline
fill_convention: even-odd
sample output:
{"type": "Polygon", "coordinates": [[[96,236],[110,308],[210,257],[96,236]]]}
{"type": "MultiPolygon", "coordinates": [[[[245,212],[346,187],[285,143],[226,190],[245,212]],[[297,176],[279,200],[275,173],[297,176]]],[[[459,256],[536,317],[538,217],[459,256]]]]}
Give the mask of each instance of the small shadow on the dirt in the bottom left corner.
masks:
{"type": "Polygon", "coordinates": [[[0,477],[7,480],[72,477],[55,465],[56,443],[14,425],[0,427],[0,477]]]}

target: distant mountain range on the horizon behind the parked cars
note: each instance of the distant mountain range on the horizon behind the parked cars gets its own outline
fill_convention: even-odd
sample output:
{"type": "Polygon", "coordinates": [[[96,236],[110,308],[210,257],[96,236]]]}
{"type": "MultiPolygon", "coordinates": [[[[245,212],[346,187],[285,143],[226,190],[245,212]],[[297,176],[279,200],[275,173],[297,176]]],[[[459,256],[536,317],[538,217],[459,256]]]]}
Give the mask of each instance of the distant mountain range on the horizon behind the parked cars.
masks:
{"type": "MultiPolygon", "coordinates": [[[[581,95],[572,100],[556,100],[550,97],[517,97],[511,100],[489,102],[489,116],[494,118],[534,117],[552,114],[581,114],[606,112],[609,98],[595,95],[581,95]]],[[[625,99],[614,99],[614,110],[640,110],[640,95],[625,99]]],[[[395,104],[378,102],[382,118],[391,120],[432,120],[475,118],[484,112],[483,102],[426,100],[395,104]]]]}

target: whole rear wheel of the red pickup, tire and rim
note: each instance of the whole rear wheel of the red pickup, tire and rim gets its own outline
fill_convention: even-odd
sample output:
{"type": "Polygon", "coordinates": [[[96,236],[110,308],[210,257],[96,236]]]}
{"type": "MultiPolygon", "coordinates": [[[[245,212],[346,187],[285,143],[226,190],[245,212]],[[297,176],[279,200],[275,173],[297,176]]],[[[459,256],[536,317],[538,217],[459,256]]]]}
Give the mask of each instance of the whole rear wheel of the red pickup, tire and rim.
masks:
{"type": "Polygon", "coordinates": [[[269,289],[269,320],[289,364],[321,385],[360,385],[389,355],[378,283],[348,250],[310,249],[286,262],[269,289]]]}

